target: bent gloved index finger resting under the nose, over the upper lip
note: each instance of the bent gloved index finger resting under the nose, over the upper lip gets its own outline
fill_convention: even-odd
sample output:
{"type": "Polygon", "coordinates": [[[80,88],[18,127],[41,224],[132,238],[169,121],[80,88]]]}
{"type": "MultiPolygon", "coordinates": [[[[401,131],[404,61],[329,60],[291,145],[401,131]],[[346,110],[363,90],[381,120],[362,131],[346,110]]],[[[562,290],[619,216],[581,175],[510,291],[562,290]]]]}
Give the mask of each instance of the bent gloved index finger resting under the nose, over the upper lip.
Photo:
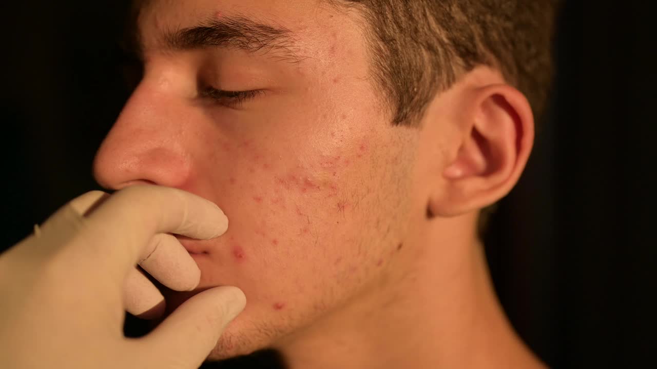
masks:
{"type": "Polygon", "coordinates": [[[176,188],[131,186],[110,196],[87,216],[85,234],[77,247],[93,247],[95,257],[89,262],[122,281],[129,269],[152,253],[154,235],[210,239],[227,227],[223,211],[200,196],[176,188]]]}

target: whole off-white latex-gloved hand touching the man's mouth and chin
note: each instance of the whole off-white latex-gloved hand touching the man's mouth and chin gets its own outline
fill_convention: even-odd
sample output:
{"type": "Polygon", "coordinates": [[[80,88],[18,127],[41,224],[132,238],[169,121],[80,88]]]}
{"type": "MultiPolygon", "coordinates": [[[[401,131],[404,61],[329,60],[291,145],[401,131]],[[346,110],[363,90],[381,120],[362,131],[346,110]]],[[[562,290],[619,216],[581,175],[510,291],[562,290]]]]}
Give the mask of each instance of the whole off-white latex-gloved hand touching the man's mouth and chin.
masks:
{"type": "Polygon", "coordinates": [[[198,284],[196,263],[168,233],[209,239],[227,226],[215,204],[173,188],[76,198],[0,255],[0,367],[198,368],[244,309],[238,288],[198,293],[139,339],[124,337],[124,312],[162,301],[137,263],[170,288],[198,284]]]}

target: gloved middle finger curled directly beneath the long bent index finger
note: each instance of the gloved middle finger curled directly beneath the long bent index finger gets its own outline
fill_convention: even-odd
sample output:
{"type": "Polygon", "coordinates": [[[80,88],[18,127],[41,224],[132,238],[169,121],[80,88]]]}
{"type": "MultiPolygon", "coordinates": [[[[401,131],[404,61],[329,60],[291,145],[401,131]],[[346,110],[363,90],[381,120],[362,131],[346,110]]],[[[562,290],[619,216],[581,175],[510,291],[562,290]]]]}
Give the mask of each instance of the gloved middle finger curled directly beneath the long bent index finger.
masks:
{"type": "Polygon", "coordinates": [[[198,286],[200,269],[171,234],[156,234],[148,247],[152,252],[139,265],[171,290],[191,291],[198,286]]]}

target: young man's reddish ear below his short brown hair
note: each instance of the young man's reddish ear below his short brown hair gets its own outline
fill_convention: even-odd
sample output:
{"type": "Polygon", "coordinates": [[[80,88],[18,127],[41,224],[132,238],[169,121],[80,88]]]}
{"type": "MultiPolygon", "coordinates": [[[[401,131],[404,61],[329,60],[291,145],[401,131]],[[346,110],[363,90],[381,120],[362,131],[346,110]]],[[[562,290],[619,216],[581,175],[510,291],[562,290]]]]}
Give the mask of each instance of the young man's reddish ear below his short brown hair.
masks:
{"type": "Polygon", "coordinates": [[[516,185],[532,151],[534,122],[527,99],[499,83],[465,89],[459,142],[442,167],[429,211],[453,217],[482,209],[516,185]]]}

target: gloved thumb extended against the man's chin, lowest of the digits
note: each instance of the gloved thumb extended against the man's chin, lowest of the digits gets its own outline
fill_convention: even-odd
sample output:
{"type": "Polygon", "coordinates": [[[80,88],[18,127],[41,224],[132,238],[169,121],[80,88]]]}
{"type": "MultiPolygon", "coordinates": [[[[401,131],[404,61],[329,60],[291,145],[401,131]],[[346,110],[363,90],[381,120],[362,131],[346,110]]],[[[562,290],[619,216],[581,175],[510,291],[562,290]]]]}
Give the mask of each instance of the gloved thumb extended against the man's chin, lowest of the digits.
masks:
{"type": "Polygon", "coordinates": [[[246,297],[237,287],[200,292],[180,305],[140,342],[144,368],[198,368],[226,326],[244,310],[246,297]]]}

